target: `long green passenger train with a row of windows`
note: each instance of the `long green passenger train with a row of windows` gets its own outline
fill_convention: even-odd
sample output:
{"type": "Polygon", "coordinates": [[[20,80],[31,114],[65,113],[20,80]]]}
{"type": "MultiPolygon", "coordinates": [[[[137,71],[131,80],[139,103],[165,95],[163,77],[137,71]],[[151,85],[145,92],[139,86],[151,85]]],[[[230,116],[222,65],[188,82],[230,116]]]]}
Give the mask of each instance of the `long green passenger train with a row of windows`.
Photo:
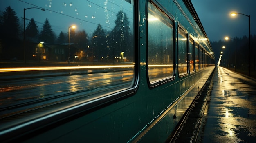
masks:
{"type": "Polygon", "coordinates": [[[171,142],[215,69],[191,0],[4,3],[25,30],[2,38],[1,142],[171,142]]]}

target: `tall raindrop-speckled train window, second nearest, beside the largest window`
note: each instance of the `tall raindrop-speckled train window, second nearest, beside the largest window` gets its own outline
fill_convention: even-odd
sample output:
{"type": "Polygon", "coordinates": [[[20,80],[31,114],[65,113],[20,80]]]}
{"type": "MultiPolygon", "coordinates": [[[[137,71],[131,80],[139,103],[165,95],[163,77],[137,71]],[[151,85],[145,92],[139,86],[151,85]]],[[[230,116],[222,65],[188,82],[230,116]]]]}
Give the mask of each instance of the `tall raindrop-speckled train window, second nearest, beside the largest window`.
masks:
{"type": "Polygon", "coordinates": [[[173,75],[173,21],[149,3],[148,78],[153,83],[173,75]]]}

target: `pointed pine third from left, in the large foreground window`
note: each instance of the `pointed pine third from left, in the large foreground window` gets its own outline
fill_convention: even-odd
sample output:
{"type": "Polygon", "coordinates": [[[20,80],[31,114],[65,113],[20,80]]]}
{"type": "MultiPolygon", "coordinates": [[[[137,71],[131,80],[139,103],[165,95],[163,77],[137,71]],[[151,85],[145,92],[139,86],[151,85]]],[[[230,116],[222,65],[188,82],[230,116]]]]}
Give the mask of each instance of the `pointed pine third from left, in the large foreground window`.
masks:
{"type": "Polygon", "coordinates": [[[40,33],[40,41],[46,43],[54,43],[54,32],[52,31],[52,26],[49,23],[48,18],[45,19],[45,23],[43,24],[43,29],[40,33]]]}

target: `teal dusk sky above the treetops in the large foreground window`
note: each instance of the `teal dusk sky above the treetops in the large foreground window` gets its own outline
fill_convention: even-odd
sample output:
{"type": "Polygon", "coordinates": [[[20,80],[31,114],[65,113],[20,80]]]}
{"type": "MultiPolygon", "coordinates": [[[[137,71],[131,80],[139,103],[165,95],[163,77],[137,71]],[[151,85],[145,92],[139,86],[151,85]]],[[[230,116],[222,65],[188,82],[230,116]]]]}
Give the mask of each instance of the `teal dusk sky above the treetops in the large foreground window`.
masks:
{"type": "Polygon", "coordinates": [[[1,12],[8,6],[16,12],[21,26],[23,26],[24,8],[45,9],[45,11],[27,9],[26,25],[31,18],[34,18],[38,29],[41,30],[45,19],[48,18],[57,36],[61,31],[67,33],[68,27],[72,25],[76,25],[75,31],[84,29],[89,35],[92,35],[98,24],[101,24],[103,29],[111,31],[120,10],[127,14],[130,26],[133,26],[133,7],[127,0],[0,0],[1,12]]]}

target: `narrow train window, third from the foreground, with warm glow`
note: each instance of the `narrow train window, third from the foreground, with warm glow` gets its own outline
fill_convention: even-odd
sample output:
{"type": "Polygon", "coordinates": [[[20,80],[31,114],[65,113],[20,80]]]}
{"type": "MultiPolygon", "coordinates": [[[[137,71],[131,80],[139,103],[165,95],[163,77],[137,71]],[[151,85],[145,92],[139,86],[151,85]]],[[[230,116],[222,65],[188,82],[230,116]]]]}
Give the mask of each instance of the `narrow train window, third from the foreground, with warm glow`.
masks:
{"type": "Polygon", "coordinates": [[[188,57],[187,57],[187,33],[182,29],[178,28],[178,68],[179,75],[188,73],[188,57]]]}

